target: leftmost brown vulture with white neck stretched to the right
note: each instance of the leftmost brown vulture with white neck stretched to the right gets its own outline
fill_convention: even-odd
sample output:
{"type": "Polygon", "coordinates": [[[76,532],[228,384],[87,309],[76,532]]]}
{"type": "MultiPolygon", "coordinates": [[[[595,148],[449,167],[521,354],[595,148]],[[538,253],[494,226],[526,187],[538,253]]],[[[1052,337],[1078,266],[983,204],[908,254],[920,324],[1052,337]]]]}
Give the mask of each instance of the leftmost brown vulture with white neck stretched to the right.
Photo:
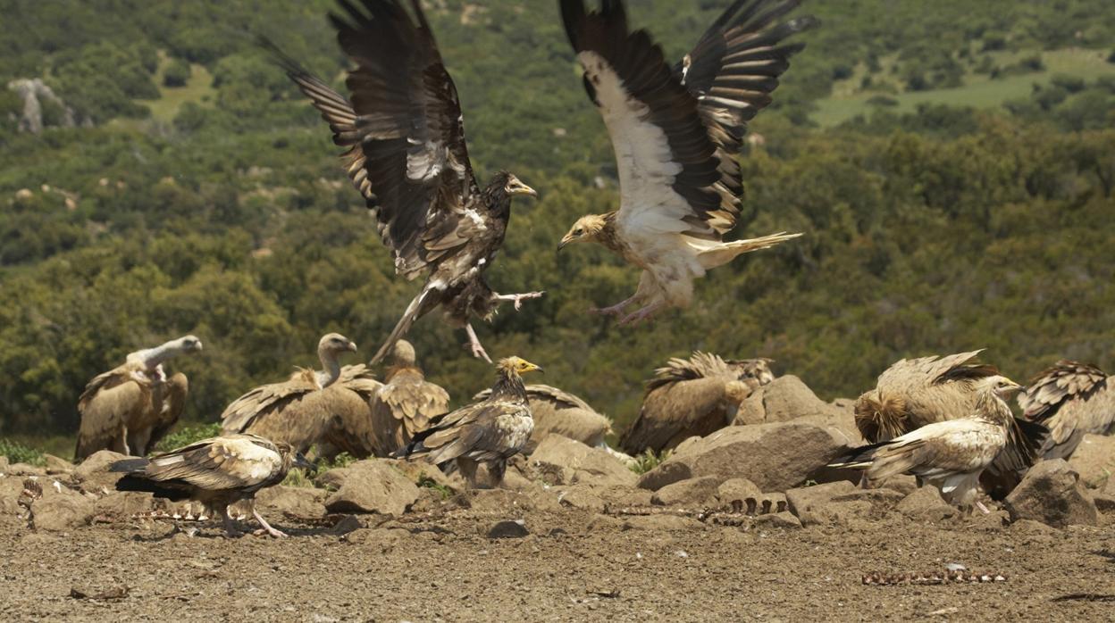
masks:
{"type": "Polygon", "coordinates": [[[94,377],[77,402],[81,425],[75,460],[97,450],[144,456],[178,421],[188,382],[178,372],[166,376],[163,363],[202,350],[193,335],[129,353],[123,364],[94,377]]]}

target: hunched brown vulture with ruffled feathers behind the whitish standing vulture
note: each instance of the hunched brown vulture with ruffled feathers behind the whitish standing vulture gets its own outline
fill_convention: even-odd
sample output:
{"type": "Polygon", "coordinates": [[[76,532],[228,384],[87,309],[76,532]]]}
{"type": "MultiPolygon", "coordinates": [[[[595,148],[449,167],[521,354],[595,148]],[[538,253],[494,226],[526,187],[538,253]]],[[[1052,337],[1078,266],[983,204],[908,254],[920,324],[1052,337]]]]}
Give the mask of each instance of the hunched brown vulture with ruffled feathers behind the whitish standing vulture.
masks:
{"type": "MultiPolygon", "coordinates": [[[[879,376],[875,389],[855,401],[855,426],[870,442],[894,439],[925,425],[967,418],[976,408],[977,389],[999,371],[973,362],[980,350],[946,357],[903,359],[879,376]]],[[[1017,484],[1015,474],[1034,465],[1048,430],[1012,418],[1004,451],[983,471],[981,483],[996,499],[1017,484]]]]}

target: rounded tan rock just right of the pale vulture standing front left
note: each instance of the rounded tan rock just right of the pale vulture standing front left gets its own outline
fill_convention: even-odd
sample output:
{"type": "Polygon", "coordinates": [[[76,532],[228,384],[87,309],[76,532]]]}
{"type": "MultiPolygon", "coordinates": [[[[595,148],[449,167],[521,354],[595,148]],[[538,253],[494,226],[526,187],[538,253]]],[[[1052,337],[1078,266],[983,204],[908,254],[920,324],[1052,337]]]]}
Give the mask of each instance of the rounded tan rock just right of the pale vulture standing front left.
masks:
{"type": "Polygon", "coordinates": [[[358,460],[318,476],[318,486],[332,488],[326,499],[330,513],[401,515],[420,491],[398,469],[382,459],[358,460]]]}

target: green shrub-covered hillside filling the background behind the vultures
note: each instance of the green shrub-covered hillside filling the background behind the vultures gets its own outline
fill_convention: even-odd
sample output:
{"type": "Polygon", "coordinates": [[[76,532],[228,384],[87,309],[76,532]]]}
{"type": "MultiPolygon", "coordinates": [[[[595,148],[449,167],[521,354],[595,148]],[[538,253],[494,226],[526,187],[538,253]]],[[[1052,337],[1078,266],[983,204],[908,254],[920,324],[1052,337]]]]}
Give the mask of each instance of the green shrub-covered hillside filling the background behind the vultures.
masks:
{"type": "MultiPolygon", "coordinates": [[[[728,0],[628,3],[680,57],[728,0]]],[[[1108,0],[805,2],[823,23],[753,125],[735,235],[806,235],[630,329],[585,310],[628,296],[637,272],[555,252],[618,197],[556,2],[425,4],[478,175],[507,168],[541,193],[516,202],[489,281],[546,296],[481,339],[621,425],[651,370],[695,349],[774,358],[825,398],[904,356],[981,347],[1014,377],[1061,357],[1115,368],[1108,0]]],[[[206,421],[316,364],[327,331],[361,357],[382,340],[419,285],[394,275],[327,126],[255,43],[341,86],[331,6],[0,0],[0,85],[39,78],[61,100],[42,100],[33,134],[0,90],[0,435],[72,432],[91,376],[187,332],[205,350],[173,367],[191,378],[186,417],[206,421]]],[[[410,338],[455,400],[488,384],[437,318],[410,338]]]]}

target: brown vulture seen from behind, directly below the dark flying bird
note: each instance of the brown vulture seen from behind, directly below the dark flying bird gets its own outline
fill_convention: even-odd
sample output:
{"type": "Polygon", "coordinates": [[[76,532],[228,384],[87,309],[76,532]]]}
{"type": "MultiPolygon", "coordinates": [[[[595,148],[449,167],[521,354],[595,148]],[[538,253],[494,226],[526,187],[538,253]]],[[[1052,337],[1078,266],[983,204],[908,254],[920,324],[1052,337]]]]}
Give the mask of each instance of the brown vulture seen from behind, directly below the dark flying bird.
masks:
{"type": "Polygon", "coordinates": [[[405,448],[435,418],[449,412],[449,393],[426,380],[410,342],[395,342],[394,351],[394,364],[371,402],[372,427],[380,440],[378,456],[405,448]]]}

